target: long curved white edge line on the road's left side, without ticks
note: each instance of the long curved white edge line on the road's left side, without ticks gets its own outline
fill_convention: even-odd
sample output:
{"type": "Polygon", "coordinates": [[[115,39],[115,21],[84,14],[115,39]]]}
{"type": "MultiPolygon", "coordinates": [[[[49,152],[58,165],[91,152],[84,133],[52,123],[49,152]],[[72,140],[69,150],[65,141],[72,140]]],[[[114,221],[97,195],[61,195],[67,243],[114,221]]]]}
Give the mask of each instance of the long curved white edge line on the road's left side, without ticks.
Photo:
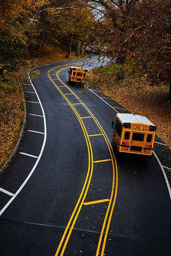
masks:
{"type": "MultiPolygon", "coordinates": [[[[30,73],[30,71],[29,71],[30,73]]],[[[31,82],[31,79],[30,79],[30,76],[28,74],[28,77],[29,77],[29,80],[30,80],[30,83],[31,85],[33,86],[33,83],[31,82]]],[[[34,88],[34,86],[33,86],[34,88]]],[[[34,88],[35,90],[35,88],[34,88]]],[[[27,183],[27,181],[29,180],[29,178],[31,177],[31,175],[33,174],[34,170],[36,169],[37,165],[38,165],[38,162],[42,156],[42,153],[43,153],[43,150],[44,150],[44,146],[45,146],[45,143],[46,143],[46,118],[45,118],[45,114],[44,114],[44,110],[43,110],[43,107],[42,107],[42,104],[41,104],[41,101],[39,99],[39,96],[35,90],[35,93],[37,95],[37,98],[39,100],[39,103],[40,103],[40,106],[41,106],[41,110],[42,110],[42,113],[43,113],[43,119],[44,119],[44,140],[43,140],[43,144],[42,144],[42,147],[41,147],[41,151],[40,151],[40,154],[37,158],[37,161],[36,163],[34,164],[33,166],[33,169],[31,170],[31,172],[29,173],[29,175],[27,176],[27,178],[25,179],[25,181],[23,182],[23,184],[20,186],[20,188],[17,190],[17,192],[15,193],[15,195],[13,195],[13,197],[8,201],[8,203],[5,205],[5,207],[0,211],[0,216],[4,213],[4,211],[9,207],[10,203],[16,198],[16,196],[20,193],[20,191],[22,190],[22,188],[25,186],[25,184],[27,183]]]]}

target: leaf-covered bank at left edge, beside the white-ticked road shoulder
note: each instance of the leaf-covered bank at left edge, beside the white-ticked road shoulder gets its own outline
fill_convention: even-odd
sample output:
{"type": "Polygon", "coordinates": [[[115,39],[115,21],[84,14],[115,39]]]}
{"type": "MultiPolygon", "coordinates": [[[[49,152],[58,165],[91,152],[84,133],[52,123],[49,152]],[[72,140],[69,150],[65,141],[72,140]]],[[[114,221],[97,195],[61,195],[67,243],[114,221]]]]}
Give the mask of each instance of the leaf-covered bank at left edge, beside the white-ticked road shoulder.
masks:
{"type": "Polygon", "coordinates": [[[24,123],[24,93],[21,83],[15,82],[0,87],[0,168],[14,150],[24,123]]]}

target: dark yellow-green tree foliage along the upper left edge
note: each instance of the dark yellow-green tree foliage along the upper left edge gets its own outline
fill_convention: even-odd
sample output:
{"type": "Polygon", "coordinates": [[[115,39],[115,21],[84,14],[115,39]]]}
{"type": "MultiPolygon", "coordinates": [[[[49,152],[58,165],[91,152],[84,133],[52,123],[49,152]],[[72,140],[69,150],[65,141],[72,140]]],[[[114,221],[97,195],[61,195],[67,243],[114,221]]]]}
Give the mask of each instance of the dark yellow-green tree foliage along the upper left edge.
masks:
{"type": "Polygon", "coordinates": [[[4,70],[19,68],[26,52],[27,37],[18,22],[23,1],[4,0],[0,3],[0,74],[3,74],[4,70]]]}

